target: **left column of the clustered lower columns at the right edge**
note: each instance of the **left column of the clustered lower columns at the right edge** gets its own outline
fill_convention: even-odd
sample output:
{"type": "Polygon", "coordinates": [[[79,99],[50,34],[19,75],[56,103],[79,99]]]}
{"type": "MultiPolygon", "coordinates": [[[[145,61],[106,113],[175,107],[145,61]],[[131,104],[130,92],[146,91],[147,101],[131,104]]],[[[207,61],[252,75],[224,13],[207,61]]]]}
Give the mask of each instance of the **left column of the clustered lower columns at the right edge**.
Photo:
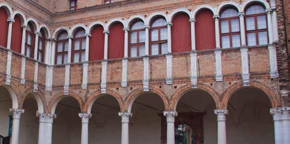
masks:
{"type": "Polygon", "coordinates": [[[271,108],[270,113],[273,115],[274,131],[275,131],[275,144],[283,144],[282,122],[281,122],[281,110],[271,108]]]}

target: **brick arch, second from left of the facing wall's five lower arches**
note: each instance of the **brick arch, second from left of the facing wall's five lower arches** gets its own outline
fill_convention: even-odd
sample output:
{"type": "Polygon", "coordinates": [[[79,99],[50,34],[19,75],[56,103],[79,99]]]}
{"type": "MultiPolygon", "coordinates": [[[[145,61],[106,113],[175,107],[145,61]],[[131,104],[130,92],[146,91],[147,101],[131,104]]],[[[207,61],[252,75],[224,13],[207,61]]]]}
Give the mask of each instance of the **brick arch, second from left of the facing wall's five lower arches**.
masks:
{"type": "Polygon", "coordinates": [[[101,96],[106,96],[106,95],[113,96],[119,103],[120,111],[121,112],[124,111],[124,101],[122,99],[122,96],[113,90],[106,89],[106,94],[101,94],[100,91],[95,91],[90,96],[88,96],[88,98],[86,99],[86,102],[85,102],[84,112],[86,112],[86,113],[88,112],[88,108],[89,108],[92,101],[98,99],[101,96]]]}

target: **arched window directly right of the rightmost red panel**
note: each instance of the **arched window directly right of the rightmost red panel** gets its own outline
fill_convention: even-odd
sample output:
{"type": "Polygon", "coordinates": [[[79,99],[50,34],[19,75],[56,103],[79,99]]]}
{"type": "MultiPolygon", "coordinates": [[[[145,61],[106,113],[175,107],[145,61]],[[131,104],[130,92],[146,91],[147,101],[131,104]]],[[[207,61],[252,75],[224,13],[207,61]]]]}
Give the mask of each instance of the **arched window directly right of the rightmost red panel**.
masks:
{"type": "Polygon", "coordinates": [[[222,48],[241,47],[240,20],[236,9],[227,8],[220,20],[222,48]]]}

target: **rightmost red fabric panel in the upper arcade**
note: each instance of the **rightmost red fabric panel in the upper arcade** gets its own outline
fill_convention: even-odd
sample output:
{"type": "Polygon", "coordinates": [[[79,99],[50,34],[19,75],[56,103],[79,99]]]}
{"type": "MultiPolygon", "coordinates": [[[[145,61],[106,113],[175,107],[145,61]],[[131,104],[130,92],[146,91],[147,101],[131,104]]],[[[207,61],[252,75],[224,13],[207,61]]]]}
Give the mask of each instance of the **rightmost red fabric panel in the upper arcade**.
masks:
{"type": "Polygon", "coordinates": [[[196,50],[215,49],[215,27],[210,10],[199,11],[195,17],[196,50]]]}

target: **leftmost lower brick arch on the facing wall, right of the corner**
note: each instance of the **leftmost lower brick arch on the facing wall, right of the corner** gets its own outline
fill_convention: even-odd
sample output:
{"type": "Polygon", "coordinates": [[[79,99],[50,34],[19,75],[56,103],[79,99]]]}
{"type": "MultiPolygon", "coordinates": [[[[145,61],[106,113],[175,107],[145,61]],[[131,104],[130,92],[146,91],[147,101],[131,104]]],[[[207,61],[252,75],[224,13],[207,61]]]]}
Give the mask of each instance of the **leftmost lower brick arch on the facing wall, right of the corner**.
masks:
{"type": "Polygon", "coordinates": [[[73,98],[75,98],[78,101],[79,105],[80,105],[81,112],[84,112],[84,102],[83,102],[81,96],[79,96],[79,94],[77,94],[75,92],[68,91],[68,95],[67,96],[63,95],[63,92],[60,92],[60,93],[56,94],[55,96],[53,96],[53,98],[50,100],[50,102],[48,102],[47,113],[51,113],[52,106],[54,105],[54,103],[59,98],[62,98],[62,97],[73,97],[73,98]]]}

